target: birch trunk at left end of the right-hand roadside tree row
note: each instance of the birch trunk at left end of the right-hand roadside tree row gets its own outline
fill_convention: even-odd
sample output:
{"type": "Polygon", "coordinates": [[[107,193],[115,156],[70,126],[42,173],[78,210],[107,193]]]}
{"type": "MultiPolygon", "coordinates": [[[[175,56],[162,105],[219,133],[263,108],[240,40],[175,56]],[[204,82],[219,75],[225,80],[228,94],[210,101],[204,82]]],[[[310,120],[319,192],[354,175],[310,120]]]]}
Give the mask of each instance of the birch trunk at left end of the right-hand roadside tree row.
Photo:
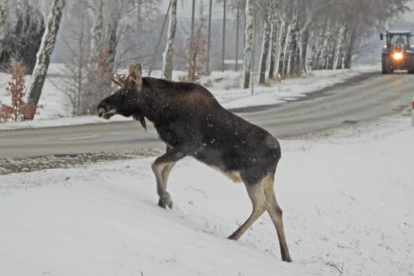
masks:
{"type": "Polygon", "coordinates": [[[253,51],[253,0],[246,0],[246,24],[245,24],[245,46],[244,46],[244,88],[250,83],[250,71],[252,67],[253,51]]]}

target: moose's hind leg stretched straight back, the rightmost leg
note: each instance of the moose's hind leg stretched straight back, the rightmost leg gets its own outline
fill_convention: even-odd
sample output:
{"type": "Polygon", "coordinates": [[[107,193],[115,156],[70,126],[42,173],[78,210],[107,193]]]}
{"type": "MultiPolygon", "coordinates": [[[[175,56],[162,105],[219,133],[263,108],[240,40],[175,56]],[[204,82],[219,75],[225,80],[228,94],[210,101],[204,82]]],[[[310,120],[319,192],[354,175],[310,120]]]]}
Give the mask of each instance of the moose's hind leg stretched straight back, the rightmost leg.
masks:
{"type": "Polygon", "coordinates": [[[285,262],[292,262],[290,258],[288,244],[286,243],[286,237],[284,234],[283,220],[282,220],[282,209],[279,207],[276,201],[275,190],[273,188],[274,182],[274,173],[270,173],[264,179],[264,195],[268,201],[267,212],[270,215],[270,218],[275,224],[277,237],[279,239],[280,254],[282,255],[282,260],[285,262]]]}

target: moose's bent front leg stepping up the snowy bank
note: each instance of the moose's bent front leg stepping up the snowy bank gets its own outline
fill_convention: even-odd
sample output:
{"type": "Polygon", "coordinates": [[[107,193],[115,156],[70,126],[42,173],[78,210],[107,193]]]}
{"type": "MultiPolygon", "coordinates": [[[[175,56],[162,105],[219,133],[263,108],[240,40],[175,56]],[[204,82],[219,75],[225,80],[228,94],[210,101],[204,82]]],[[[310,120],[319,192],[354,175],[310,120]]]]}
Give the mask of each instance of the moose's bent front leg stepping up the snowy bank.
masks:
{"type": "Polygon", "coordinates": [[[167,152],[164,155],[158,157],[154,164],[152,164],[152,171],[155,174],[155,179],[157,179],[157,193],[159,195],[158,205],[161,208],[172,208],[172,200],[170,194],[167,192],[167,181],[168,175],[172,167],[175,165],[175,162],[179,159],[184,158],[186,155],[180,148],[169,148],[167,147],[167,152]]]}

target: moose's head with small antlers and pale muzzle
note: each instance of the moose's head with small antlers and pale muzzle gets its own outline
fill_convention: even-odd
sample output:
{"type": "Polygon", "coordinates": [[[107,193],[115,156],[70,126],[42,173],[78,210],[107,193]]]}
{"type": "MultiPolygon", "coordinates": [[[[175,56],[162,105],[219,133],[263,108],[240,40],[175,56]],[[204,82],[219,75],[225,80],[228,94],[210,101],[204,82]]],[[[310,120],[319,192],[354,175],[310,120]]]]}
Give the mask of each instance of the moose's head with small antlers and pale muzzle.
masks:
{"type": "Polygon", "coordinates": [[[133,116],[134,119],[141,122],[146,129],[145,117],[140,108],[142,97],[142,68],[141,64],[130,66],[127,77],[121,77],[115,74],[117,79],[110,78],[117,86],[118,90],[103,99],[98,104],[98,116],[104,119],[110,119],[114,115],[122,115],[124,117],[133,116]]]}

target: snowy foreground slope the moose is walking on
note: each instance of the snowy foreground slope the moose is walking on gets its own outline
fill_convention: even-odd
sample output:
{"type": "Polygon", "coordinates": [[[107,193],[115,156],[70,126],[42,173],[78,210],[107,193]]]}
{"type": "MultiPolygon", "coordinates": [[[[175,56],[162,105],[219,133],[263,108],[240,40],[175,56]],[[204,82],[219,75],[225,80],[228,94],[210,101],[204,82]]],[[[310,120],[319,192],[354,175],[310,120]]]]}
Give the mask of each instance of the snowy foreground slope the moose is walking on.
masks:
{"type": "Polygon", "coordinates": [[[409,117],[281,141],[276,194],[294,262],[241,184],[193,159],[157,206],[154,157],[0,176],[0,275],[414,275],[409,117]],[[335,266],[337,268],[335,268],[335,266]]]}

